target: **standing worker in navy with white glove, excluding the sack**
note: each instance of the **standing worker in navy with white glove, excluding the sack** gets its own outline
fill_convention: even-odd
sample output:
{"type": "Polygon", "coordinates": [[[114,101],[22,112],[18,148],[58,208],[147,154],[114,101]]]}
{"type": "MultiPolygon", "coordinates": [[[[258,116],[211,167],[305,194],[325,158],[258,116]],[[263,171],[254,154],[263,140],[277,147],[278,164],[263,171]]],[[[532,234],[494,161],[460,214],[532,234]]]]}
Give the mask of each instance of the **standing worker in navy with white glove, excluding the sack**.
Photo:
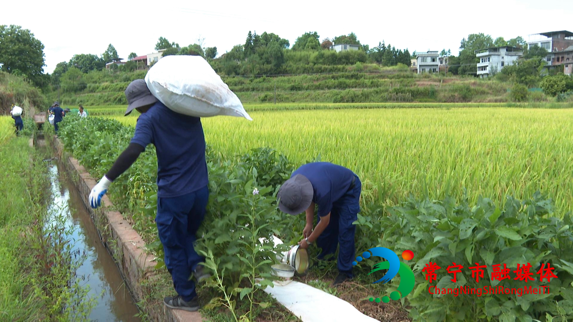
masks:
{"type": "Polygon", "coordinates": [[[163,244],[164,260],[178,295],[163,299],[167,307],[197,311],[199,301],[193,274],[198,282],[210,275],[198,265],[205,261],[193,247],[195,233],[205,217],[209,200],[205,135],[199,117],[171,111],[149,89],[145,80],[132,81],[125,89],[127,116],[141,113],[134,137],[111,169],[93,187],[89,203],[101,205],[111,182],[135,162],[149,144],[157,154],[157,215],[155,222],[163,244]]]}

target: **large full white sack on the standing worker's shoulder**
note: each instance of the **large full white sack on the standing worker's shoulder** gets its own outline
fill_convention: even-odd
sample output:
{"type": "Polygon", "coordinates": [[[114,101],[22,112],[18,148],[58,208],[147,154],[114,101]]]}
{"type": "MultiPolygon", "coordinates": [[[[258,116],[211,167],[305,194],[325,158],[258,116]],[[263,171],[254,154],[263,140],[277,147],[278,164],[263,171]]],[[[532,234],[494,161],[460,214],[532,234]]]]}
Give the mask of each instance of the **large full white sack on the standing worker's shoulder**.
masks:
{"type": "Polygon", "coordinates": [[[145,81],[151,93],[174,112],[253,120],[237,95],[201,56],[163,57],[149,69],[145,81]]]}

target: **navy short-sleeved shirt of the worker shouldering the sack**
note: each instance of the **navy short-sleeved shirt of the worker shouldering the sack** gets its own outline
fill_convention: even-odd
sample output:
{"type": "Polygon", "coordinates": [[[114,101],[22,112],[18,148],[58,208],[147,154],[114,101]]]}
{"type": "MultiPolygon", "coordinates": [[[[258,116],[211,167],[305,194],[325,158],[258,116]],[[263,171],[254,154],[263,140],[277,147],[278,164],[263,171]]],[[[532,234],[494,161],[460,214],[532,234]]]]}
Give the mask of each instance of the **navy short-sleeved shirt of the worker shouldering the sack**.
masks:
{"type": "Polygon", "coordinates": [[[179,197],[209,183],[199,117],[175,113],[158,101],[139,116],[131,142],[155,146],[158,197],[179,197]]]}

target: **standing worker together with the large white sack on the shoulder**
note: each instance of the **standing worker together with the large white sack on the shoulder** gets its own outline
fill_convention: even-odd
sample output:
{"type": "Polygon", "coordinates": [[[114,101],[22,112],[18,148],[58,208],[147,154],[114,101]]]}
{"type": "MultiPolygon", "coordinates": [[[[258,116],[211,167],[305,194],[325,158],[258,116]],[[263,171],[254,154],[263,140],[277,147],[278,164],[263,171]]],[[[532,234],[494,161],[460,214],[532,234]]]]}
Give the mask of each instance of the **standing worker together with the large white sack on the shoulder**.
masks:
{"type": "Polygon", "coordinates": [[[201,57],[163,58],[149,70],[146,80],[129,84],[125,97],[125,116],[134,109],[142,114],[129,146],[93,187],[89,203],[92,208],[99,207],[113,180],[131,167],[149,144],[154,144],[158,163],[155,222],[165,265],[177,292],[163,302],[172,309],[198,311],[195,282],[189,277],[193,274],[197,282],[209,277],[199,264],[205,258],[193,246],[209,201],[206,144],[200,117],[251,118],[238,97],[201,57]]]}

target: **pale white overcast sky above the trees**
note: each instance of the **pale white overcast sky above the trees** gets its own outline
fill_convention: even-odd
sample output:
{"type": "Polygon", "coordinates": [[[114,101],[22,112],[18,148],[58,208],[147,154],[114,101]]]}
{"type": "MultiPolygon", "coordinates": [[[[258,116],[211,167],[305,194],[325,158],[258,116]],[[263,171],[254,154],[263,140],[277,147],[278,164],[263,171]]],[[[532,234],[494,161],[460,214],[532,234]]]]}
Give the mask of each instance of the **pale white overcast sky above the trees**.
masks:
{"type": "Polygon", "coordinates": [[[570,30],[571,1],[5,1],[3,25],[30,29],[45,49],[44,71],[74,54],[96,54],[112,44],[121,58],[155,52],[159,37],[187,46],[205,38],[218,56],[244,44],[249,30],[275,33],[295,44],[305,32],[320,41],[354,32],[370,47],[386,41],[410,53],[451,49],[471,33],[505,40],[570,30]]]}

